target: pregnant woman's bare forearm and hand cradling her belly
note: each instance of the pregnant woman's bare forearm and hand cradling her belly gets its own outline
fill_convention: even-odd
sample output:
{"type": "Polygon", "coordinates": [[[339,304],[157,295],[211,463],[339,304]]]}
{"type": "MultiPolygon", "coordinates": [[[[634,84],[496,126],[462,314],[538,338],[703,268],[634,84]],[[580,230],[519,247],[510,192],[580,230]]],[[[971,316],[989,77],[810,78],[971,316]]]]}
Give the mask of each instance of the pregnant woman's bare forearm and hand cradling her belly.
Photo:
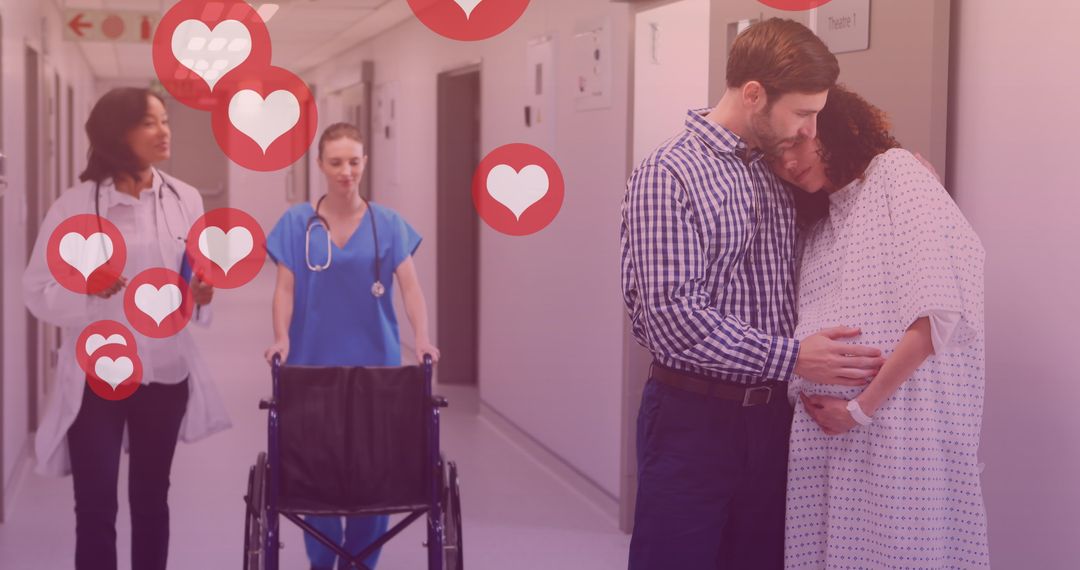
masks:
{"type": "MultiPolygon", "coordinates": [[[[863,392],[855,396],[855,402],[863,413],[873,416],[900,386],[915,374],[915,370],[934,353],[930,335],[930,318],[920,317],[904,332],[896,344],[896,350],[886,361],[885,366],[874,377],[863,392]]],[[[810,417],[828,435],[838,435],[851,430],[858,423],[848,411],[848,401],[833,396],[808,396],[800,394],[799,398],[810,417]]]]}

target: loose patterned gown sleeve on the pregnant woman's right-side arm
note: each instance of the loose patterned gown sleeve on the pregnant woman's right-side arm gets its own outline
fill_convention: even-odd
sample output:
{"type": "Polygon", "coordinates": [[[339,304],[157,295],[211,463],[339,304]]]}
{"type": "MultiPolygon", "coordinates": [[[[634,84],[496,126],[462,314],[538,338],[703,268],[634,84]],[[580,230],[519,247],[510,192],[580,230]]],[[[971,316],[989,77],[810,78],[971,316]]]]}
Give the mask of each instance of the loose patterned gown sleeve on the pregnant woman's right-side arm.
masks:
{"type": "Polygon", "coordinates": [[[886,190],[901,325],[929,317],[934,352],[983,330],[985,250],[934,175],[905,150],[890,151],[867,180],[886,190]]]}

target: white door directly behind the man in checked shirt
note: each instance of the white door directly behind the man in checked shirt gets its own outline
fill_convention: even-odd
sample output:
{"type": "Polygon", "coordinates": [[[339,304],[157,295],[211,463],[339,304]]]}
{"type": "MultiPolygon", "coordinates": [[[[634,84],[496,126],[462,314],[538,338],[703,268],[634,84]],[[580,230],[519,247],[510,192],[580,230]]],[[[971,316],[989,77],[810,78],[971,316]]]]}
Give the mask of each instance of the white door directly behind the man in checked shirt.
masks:
{"type": "MultiPolygon", "coordinates": [[[[708,0],[681,0],[636,15],[634,31],[633,162],[683,127],[687,109],[708,107],[708,0]]],[[[620,526],[633,527],[637,496],[637,408],[652,356],[630,332],[623,335],[622,461],[620,526]]]]}

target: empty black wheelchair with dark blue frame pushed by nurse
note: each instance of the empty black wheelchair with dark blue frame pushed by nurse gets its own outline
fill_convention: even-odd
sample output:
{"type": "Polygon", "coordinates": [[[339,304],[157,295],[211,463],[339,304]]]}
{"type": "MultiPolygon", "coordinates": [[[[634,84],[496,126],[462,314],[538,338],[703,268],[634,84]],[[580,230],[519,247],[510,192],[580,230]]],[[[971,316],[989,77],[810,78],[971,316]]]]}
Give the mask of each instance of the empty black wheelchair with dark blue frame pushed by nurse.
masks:
{"type": "Polygon", "coordinates": [[[245,570],[278,570],[280,516],[334,551],[346,568],[426,516],[429,570],[464,562],[458,470],[438,448],[446,398],[432,395],[432,359],[396,368],[282,366],[272,363],[268,446],[244,496],[245,570]],[[353,556],[300,515],[405,518],[353,556]]]}

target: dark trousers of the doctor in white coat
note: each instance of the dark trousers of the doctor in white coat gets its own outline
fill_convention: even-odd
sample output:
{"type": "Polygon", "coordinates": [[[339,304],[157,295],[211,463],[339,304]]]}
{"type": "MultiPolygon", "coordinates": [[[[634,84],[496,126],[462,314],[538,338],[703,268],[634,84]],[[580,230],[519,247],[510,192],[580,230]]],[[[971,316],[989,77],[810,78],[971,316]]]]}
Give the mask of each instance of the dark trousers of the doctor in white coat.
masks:
{"type": "Polygon", "coordinates": [[[168,557],[168,472],[188,402],[188,382],[144,384],[110,402],[90,386],[68,430],[75,483],[77,570],[117,568],[117,481],[124,423],[131,452],[132,569],[164,570],[168,557]]]}

